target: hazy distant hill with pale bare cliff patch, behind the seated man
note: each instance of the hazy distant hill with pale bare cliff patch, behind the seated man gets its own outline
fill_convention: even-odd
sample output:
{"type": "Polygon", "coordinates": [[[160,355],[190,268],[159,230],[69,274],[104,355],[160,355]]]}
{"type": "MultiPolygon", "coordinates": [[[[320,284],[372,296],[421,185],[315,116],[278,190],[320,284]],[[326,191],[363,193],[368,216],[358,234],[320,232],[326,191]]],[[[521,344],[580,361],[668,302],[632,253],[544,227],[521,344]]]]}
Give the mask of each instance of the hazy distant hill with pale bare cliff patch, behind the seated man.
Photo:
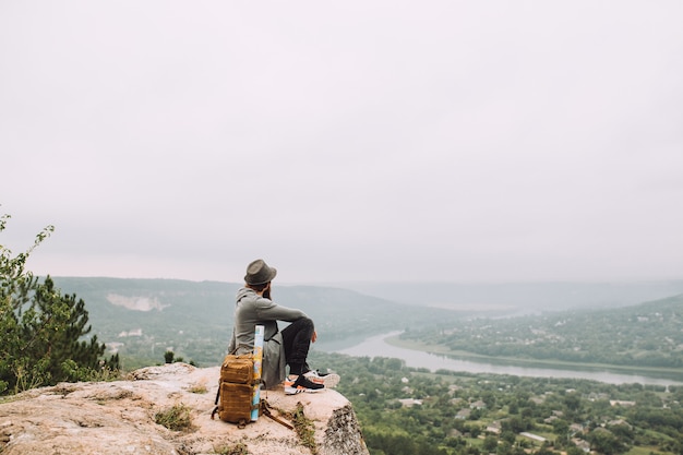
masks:
{"type": "MultiPolygon", "coordinates": [[[[176,279],[52,277],[63,294],[85,301],[93,334],[117,350],[125,368],[177,357],[201,366],[223,359],[241,285],[176,279]]],[[[275,286],[273,299],[299,308],[316,324],[324,348],[366,336],[462,318],[462,312],[396,303],[356,291],[315,286],[275,286]]]]}

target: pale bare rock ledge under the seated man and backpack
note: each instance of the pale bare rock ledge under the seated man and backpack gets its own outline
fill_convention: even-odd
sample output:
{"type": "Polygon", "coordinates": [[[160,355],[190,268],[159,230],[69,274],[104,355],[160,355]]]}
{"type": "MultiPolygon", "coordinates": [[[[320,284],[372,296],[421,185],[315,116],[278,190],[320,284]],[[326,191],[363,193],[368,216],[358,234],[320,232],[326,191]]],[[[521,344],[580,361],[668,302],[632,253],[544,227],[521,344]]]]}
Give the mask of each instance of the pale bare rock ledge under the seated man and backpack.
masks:
{"type": "Polygon", "coordinates": [[[265,416],[244,429],[212,420],[218,369],[172,363],[137,370],[128,381],[62,383],[7,397],[0,400],[0,453],[194,455],[231,448],[251,455],[368,455],[350,403],[333,390],[262,391],[273,415],[286,422],[301,404],[314,426],[312,448],[265,416]],[[171,431],[155,422],[157,412],[177,405],[189,410],[190,429],[171,431]]]}

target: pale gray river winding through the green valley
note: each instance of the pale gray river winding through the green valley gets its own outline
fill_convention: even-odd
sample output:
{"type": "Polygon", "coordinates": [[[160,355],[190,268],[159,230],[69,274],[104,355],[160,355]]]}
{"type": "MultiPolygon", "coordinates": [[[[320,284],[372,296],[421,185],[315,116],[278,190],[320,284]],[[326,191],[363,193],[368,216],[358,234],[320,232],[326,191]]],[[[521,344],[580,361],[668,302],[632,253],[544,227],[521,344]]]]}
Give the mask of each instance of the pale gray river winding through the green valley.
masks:
{"type": "Polygon", "coordinates": [[[615,373],[607,370],[562,370],[551,368],[527,368],[512,364],[495,364],[480,362],[476,360],[453,359],[446,356],[429,354],[420,350],[406,349],[386,343],[386,338],[398,335],[400,332],[392,332],[372,336],[362,343],[335,350],[335,352],[347,354],[354,357],[390,357],[402,359],[407,367],[427,368],[430,371],[451,370],[465,371],[468,373],[495,373],[511,374],[515,376],[532,378],[574,378],[587,379],[604,382],[608,384],[632,384],[645,385],[683,385],[683,382],[654,378],[638,374],[615,373]]]}

